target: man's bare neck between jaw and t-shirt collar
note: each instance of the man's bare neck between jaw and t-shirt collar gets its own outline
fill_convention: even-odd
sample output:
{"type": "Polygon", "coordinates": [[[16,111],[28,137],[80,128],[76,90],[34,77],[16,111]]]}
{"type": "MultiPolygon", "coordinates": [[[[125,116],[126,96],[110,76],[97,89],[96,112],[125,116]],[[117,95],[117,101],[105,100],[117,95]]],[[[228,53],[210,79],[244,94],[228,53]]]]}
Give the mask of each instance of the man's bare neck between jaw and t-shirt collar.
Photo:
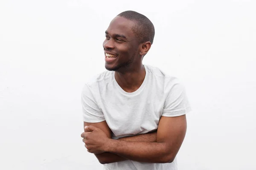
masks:
{"type": "Polygon", "coordinates": [[[145,79],[146,71],[141,64],[137,69],[130,71],[115,71],[115,79],[119,86],[126,92],[136,91],[142,85],[145,79]]]}

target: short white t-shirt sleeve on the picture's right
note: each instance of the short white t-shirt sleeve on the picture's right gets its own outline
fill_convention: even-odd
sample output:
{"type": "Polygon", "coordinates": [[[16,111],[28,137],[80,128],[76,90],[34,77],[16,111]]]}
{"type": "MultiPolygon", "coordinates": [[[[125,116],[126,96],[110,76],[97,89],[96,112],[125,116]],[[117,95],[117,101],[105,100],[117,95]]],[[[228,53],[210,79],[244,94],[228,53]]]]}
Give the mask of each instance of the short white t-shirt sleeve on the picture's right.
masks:
{"type": "Polygon", "coordinates": [[[181,116],[191,111],[183,85],[179,82],[175,82],[169,84],[166,89],[168,93],[164,102],[162,116],[181,116]]]}

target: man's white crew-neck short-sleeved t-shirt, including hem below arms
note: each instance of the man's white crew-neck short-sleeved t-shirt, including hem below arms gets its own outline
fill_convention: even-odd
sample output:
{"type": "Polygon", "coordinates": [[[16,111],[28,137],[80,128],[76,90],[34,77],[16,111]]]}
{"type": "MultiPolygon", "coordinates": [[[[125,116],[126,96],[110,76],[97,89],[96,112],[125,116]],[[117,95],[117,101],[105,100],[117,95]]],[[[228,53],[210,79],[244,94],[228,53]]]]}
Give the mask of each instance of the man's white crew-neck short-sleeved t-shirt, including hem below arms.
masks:
{"type": "MultiPolygon", "coordinates": [[[[84,122],[106,120],[113,139],[118,139],[154,131],[161,116],[181,116],[191,110],[177,78],[167,76],[156,67],[144,67],[145,79],[132,93],[118,85],[114,71],[105,71],[87,82],[81,95],[84,122]]],[[[104,169],[177,170],[177,161],[157,164],[126,160],[104,164],[104,169]]]]}

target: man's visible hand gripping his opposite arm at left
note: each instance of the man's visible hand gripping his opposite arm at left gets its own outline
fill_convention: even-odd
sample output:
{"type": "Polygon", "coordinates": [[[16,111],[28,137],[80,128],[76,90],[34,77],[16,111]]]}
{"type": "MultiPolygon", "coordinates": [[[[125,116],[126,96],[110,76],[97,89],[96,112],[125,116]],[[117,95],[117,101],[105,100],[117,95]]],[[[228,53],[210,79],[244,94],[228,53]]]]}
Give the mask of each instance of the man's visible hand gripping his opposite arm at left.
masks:
{"type": "Polygon", "coordinates": [[[109,142],[108,136],[101,129],[93,125],[85,126],[84,131],[81,137],[83,138],[87,151],[95,154],[105,152],[105,147],[109,142]]]}

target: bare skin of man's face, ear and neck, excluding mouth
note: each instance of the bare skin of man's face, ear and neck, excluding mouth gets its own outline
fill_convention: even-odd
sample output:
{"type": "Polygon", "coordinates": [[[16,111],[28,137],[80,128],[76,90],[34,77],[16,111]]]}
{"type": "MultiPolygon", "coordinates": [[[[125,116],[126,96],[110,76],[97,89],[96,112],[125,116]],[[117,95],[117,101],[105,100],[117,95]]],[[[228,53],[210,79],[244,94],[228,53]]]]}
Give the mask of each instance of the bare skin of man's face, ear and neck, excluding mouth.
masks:
{"type": "Polygon", "coordinates": [[[116,82],[129,93],[136,91],[143,83],[145,68],[142,59],[151,48],[149,41],[138,43],[133,26],[133,21],[115,17],[106,30],[103,42],[105,53],[117,55],[115,60],[105,63],[105,68],[115,71],[116,82]]]}

